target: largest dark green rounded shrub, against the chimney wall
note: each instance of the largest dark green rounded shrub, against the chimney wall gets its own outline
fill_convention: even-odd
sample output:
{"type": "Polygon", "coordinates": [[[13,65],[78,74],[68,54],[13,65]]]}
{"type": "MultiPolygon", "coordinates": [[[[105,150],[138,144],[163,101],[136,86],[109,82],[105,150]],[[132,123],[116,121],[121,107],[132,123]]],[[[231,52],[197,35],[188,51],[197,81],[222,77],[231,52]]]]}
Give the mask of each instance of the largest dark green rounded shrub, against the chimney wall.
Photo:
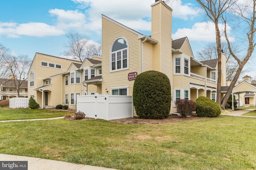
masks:
{"type": "Polygon", "coordinates": [[[133,86],[136,114],[142,119],[165,119],[171,108],[169,78],[158,71],[146,71],[138,76],[133,86]]]}

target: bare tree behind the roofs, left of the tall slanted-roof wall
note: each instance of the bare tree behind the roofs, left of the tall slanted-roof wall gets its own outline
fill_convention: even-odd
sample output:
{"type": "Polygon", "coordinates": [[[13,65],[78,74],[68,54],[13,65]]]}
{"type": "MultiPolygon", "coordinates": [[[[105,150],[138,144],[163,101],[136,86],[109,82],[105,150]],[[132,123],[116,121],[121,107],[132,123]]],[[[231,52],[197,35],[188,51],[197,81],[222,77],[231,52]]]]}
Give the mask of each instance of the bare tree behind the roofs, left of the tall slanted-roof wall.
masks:
{"type": "Polygon", "coordinates": [[[63,55],[82,62],[84,58],[92,58],[94,55],[101,54],[101,45],[93,43],[85,35],[68,33],[66,37],[68,38],[68,43],[65,45],[67,50],[64,51],[63,55]]]}

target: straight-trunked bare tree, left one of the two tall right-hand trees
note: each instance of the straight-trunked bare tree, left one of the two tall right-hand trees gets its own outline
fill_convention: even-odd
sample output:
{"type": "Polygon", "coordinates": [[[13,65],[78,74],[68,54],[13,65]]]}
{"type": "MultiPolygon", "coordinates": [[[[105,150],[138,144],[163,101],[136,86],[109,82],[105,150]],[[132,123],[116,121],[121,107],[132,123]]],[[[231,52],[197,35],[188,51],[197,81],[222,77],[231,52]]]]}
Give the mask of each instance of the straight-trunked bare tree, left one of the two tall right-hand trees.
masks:
{"type": "Polygon", "coordinates": [[[218,79],[217,79],[217,96],[216,102],[221,105],[221,34],[219,22],[221,21],[222,14],[224,14],[230,6],[237,0],[196,0],[206,12],[206,16],[215,25],[216,45],[218,54],[218,79]]]}

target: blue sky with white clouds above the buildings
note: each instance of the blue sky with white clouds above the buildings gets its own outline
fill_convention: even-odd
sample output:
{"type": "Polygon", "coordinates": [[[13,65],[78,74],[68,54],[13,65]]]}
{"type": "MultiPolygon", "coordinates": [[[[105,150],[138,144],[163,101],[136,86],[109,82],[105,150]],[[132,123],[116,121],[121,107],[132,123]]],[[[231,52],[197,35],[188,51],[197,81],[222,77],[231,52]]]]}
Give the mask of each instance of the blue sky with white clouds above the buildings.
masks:
{"type": "MultiPolygon", "coordinates": [[[[101,41],[101,14],[140,33],[150,35],[151,7],[155,0],[2,0],[0,43],[14,55],[36,52],[60,57],[66,33],[79,32],[94,42],[101,41]]],[[[187,36],[196,57],[206,43],[215,42],[214,25],[195,0],[175,0],[172,37],[187,36]]],[[[253,59],[253,57],[252,57],[253,59]]],[[[254,63],[253,60],[249,61],[254,63]]],[[[251,75],[253,76],[253,75],[251,75]]]]}

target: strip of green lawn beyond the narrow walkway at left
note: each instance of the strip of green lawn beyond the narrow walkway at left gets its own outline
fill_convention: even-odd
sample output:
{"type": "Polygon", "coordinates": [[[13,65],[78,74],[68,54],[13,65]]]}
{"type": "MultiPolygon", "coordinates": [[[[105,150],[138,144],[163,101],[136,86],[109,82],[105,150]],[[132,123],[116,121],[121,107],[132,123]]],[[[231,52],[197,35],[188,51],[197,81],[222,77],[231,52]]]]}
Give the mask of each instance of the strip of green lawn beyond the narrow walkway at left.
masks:
{"type": "MultiPolygon", "coordinates": [[[[72,112],[74,113],[74,112],[72,112]]],[[[3,109],[0,108],[1,120],[18,120],[18,119],[40,119],[61,117],[71,114],[67,111],[53,111],[47,109],[3,109]]]]}

